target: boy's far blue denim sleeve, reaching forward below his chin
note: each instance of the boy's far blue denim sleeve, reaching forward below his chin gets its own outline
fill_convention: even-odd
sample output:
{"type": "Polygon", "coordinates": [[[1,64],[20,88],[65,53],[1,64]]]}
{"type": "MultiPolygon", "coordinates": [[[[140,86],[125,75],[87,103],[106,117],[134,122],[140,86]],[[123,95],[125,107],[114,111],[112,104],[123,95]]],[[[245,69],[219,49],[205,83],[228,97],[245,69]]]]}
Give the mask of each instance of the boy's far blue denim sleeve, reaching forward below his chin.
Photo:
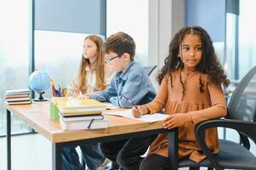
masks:
{"type": "Polygon", "coordinates": [[[98,101],[110,102],[111,96],[117,96],[117,91],[114,86],[114,78],[111,80],[111,84],[108,86],[108,88],[106,88],[105,90],[103,90],[102,92],[99,92],[97,94],[92,94],[89,97],[91,99],[96,99],[98,101]]]}

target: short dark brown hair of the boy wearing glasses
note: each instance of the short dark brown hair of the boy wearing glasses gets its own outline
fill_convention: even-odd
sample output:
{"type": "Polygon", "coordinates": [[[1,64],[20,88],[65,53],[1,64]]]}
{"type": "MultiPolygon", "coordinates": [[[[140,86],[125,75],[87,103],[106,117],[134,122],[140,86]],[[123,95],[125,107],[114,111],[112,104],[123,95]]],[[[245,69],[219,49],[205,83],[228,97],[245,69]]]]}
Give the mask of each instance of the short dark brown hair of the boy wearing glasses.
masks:
{"type": "Polygon", "coordinates": [[[131,60],[134,60],[135,48],[134,39],[122,31],[106,38],[103,44],[104,53],[114,52],[118,55],[128,53],[131,60]]]}

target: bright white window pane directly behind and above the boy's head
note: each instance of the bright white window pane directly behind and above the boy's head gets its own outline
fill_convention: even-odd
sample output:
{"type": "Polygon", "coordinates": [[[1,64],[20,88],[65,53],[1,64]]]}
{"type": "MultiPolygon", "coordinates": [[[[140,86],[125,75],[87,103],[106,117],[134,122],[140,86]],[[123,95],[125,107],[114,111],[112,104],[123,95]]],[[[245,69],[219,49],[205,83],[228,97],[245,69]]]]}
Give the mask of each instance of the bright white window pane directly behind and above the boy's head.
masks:
{"type": "Polygon", "coordinates": [[[148,0],[108,0],[106,2],[106,36],[123,31],[134,38],[135,60],[148,65],[148,0]]]}

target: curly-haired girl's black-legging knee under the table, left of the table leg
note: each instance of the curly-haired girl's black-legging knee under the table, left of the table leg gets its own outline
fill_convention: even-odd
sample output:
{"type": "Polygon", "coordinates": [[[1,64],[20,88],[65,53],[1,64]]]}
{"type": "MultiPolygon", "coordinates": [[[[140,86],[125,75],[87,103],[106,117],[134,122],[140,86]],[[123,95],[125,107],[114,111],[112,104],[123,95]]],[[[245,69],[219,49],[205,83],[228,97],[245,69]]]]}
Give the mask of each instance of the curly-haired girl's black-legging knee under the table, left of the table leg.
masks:
{"type": "Polygon", "coordinates": [[[168,158],[151,154],[141,161],[139,170],[166,170],[168,169],[168,158]]]}

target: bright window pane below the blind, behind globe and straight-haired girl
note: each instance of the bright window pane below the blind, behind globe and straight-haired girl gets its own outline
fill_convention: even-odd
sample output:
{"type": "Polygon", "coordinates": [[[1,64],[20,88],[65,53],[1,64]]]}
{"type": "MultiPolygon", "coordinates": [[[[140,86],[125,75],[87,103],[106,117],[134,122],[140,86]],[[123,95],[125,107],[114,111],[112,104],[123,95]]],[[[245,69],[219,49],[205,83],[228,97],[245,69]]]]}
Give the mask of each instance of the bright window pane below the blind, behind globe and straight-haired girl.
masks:
{"type": "MultiPolygon", "coordinates": [[[[87,36],[64,31],[35,31],[36,70],[47,71],[55,86],[66,87],[78,71],[83,39],[87,36]]],[[[44,96],[52,97],[51,90],[44,96]]]]}

